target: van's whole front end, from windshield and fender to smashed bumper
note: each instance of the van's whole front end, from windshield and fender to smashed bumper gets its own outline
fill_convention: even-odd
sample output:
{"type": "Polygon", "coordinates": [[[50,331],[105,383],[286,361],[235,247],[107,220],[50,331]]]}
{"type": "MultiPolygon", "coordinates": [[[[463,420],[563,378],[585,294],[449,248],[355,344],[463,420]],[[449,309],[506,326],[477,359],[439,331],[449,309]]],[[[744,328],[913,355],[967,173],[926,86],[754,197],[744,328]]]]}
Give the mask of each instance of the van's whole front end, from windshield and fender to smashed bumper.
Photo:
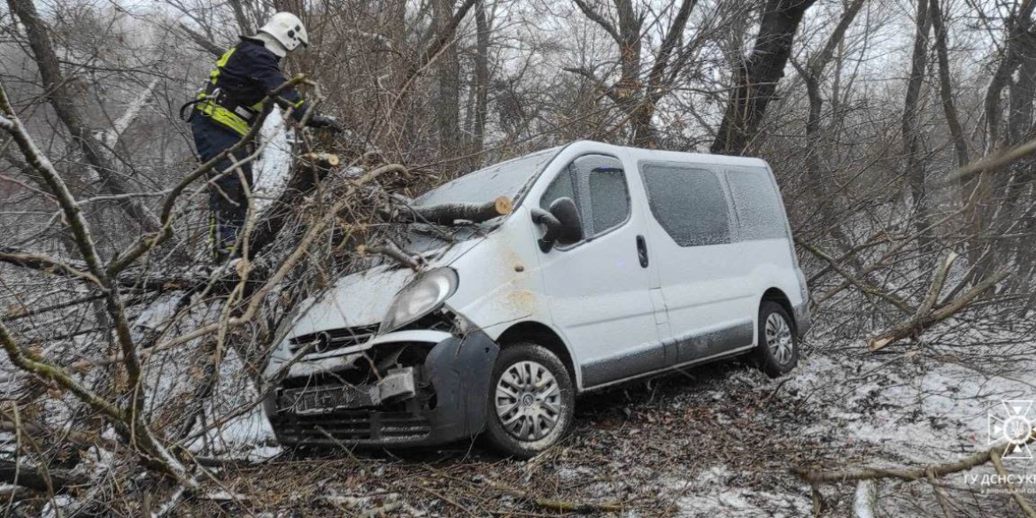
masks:
{"type": "MultiPolygon", "coordinates": [[[[484,201],[484,184],[520,200],[555,151],[472,173],[413,203],[484,201]]],[[[542,287],[533,274],[529,221],[528,210],[516,207],[509,217],[450,229],[396,227],[394,242],[419,268],[372,258],[373,267],[300,305],[265,370],[276,383],[264,409],[278,440],[430,445],[482,432],[492,411],[496,340],[509,322],[545,307],[531,296],[542,287]]]]}

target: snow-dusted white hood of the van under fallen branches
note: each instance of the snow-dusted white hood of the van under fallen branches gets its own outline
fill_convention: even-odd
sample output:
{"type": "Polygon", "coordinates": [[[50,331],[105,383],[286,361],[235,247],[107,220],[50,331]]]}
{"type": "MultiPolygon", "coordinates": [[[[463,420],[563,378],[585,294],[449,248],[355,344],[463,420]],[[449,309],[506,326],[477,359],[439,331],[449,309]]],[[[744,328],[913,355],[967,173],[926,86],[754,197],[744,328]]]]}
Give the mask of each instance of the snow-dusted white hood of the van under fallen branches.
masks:
{"type": "MultiPolygon", "coordinates": [[[[468,239],[422,254],[430,257],[423,271],[453,264],[482,240],[468,239]]],[[[410,268],[386,263],[343,277],[320,295],[303,303],[304,311],[285,339],[380,323],[396,294],[416,276],[410,268]]]]}

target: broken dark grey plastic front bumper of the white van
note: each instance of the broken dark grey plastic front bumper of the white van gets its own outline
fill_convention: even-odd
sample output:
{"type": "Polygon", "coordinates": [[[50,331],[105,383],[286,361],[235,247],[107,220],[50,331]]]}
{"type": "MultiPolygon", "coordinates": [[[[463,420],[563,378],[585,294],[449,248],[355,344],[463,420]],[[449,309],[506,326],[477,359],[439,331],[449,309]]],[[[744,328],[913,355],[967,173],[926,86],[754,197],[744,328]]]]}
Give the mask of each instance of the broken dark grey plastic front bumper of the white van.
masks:
{"type": "MultiPolygon", "coordinates": [[[[379,344],[374,347],[380,347],[379,344]]],[[[267,400],[288,445],[430,445],[467,439],[486,422],[499,347],[482,332],[432,346],[423,364],[387,370],[376,382],[282,388],[267,400]]]]}

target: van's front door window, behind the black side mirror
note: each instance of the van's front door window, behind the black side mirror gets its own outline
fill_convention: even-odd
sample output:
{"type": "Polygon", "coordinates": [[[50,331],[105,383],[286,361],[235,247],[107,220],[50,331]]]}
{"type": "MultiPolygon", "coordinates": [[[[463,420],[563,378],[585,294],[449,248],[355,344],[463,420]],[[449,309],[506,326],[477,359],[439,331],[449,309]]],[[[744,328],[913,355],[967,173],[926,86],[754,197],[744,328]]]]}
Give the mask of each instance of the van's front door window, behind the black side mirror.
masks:
{"type": "Polygon", "coordinates": [[[549,209],[554,200],[566,196],[579,207],[586,238],[622,225],[630,215],[623,163],[612,156],[586,154],[573,161],[547,186],[540,207],[549,209]]]}

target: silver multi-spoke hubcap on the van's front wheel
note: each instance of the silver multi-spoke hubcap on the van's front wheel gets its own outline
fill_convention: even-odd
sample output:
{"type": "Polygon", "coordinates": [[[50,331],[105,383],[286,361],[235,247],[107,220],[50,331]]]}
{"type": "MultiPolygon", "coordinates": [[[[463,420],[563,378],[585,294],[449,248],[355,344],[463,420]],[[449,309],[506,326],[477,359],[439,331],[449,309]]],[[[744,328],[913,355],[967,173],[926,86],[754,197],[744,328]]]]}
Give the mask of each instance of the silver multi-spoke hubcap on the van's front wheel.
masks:
{"type": "Polygon", "coordinates": [[[546,367],[518,362],[496,382],[496,416],[519,440],[540,440],[557,425],[562,391],[546,367]]]}

